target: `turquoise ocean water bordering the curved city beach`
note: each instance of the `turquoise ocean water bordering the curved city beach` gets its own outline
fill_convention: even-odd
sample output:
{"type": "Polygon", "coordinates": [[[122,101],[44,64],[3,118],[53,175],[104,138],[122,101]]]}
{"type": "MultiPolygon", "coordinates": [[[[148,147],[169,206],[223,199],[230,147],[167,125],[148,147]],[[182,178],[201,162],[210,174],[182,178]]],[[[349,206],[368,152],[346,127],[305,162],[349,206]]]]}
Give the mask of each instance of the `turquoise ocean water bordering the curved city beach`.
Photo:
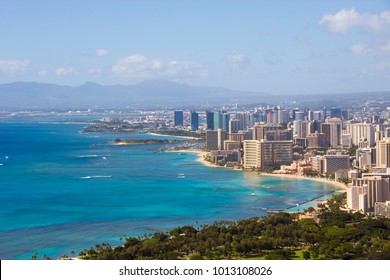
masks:
{"type": "MultiPolygon", "coordinates": [[[[123,235],[263,216],[327,195],[331,185],[210,168],[147,134],[83,134],[82,124],[0,123],[0,259],[71,255],[123,235]]],[[[169,137],[167,137],[169,138],[169,137]]]]}

